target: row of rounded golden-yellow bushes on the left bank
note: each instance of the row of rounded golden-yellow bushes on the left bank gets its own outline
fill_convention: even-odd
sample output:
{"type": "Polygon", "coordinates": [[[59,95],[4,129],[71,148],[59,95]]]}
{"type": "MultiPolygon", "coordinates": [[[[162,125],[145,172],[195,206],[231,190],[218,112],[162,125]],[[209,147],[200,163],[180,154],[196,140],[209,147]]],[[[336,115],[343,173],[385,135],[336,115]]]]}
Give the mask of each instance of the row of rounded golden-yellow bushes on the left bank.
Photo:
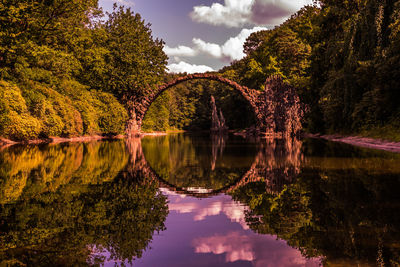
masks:
{"type": "Polygon", "coordinates": [[[13,141],[120,134],[127,112],[109,93],[69,80],[56,86],[0,81],[0,137],[13,141]]]}

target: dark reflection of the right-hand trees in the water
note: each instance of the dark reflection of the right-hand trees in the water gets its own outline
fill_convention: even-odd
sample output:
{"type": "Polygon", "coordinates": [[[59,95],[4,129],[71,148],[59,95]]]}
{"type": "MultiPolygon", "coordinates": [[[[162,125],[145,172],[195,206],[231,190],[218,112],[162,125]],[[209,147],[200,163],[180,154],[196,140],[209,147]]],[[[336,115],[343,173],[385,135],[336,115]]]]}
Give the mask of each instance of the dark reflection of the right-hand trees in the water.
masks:
{"type": "Polygon", "coordinates": [[[251,229],[277,235],[306,256],[324,256],[327,264],[340,266],[382,262],[397,266],[399,169],[384,170],[382,166],[395,166],[399,161],[381,159],[381,166],[373,161],[318,161],[310,155],[299,161],[301,165],[291,161],[297,166],[293,168],[297,179],[278,194],[265,190],[264,182],[259,181],[238,188],[232,196],[249,206],[246,221],[251,229]]]}

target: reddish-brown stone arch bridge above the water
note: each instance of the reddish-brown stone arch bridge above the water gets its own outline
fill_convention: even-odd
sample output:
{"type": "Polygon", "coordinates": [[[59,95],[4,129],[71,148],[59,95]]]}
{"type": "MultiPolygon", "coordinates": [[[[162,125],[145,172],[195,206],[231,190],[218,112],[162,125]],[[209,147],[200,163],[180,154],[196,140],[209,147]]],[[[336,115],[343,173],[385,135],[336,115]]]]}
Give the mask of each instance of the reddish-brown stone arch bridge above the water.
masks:
{"type": "Polygon", "coordinates": [[[265,90],[258,91],[216,74],[199,73],[178,77],[163,84],[154,92],[129,100],[130,120],[126,132],[129,137],[141,131],[143,119],[151,104],[166,90],[190,80],[211,80],[226,84],[237,90],[250,104],[255,118],[256,130],[261,135],[296,135],[301,130],[304,109],[294,87],[283,82],[280,76],[271,76],[265,82],[265,90]]]}

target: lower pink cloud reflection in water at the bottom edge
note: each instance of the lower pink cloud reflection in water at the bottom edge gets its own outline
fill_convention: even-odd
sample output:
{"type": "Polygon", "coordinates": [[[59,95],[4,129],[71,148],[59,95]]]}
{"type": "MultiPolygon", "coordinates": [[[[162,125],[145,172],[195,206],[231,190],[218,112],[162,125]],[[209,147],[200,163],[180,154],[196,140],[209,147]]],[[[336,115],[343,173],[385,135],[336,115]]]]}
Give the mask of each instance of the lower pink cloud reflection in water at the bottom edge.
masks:
{"type": "Polygon", "coordinates": [[[193,240],[196,253],[226,254],[226,262],[251,261],[254,266],[320,266],[320,259],[306,259],[300,251],[275,236],[230,232],[193,240]]]}

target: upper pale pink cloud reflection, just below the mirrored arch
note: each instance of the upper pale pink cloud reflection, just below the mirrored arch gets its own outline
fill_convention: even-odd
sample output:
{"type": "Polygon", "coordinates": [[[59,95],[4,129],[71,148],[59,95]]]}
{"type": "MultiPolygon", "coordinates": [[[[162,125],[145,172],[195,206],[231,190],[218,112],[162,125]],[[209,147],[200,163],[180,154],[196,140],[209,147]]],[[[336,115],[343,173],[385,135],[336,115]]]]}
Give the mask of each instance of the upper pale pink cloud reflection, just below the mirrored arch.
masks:
{"type": "Polygon", "coordinates": [[[177,213],[194,213],[193,220],[203,221],[209,216],[225,214],[231,222],[239,223],[243,229],[249,229],[245,220],[248,208],[228,198],[194,199],[171,201],[168,204],[170,211],[177,213]]]}

